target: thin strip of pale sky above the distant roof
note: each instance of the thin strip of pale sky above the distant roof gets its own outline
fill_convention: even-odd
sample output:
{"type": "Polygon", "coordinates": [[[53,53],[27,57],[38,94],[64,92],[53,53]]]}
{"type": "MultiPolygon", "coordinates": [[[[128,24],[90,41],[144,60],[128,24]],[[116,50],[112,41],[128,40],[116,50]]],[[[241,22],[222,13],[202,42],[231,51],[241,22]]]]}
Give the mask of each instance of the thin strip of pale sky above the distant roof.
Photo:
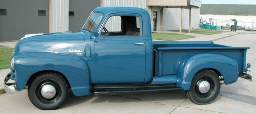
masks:
{"type": "Polygon", "coordinates": [[[256,4],[256,0],[198,0],[202,4],[256,4]]]}

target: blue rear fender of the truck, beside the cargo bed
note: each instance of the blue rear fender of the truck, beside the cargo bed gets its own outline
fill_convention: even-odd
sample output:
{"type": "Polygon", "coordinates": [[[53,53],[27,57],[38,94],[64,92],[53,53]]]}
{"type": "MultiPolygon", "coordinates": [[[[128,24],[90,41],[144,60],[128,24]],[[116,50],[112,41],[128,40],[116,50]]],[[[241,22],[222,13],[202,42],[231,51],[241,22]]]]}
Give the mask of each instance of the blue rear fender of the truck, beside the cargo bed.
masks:
{"type": "Polygon", "coordinates": [[[185,91],[190,89],[194,75],[203,69],[218,70],[226,84],[234,83],[238,79],[238,63],[233,58],[220,54],[196,54],[188,56],[180,62],[177,72],[177,86],[185,91]]]}

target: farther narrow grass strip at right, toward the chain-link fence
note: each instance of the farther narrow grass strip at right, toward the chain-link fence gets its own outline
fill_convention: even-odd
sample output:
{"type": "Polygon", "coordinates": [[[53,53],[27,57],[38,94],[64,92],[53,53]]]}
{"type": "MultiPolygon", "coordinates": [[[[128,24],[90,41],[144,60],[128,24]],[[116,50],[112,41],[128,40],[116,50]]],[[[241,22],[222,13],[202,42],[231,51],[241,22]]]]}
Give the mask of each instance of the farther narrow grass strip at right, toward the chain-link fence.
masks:
{"type": "MultiPolygon", "coordinates": [[[[174,32],[180,32],[180,30],[173,30],[174,32]]],[[[203,34],[203,35],[213,35],[213,34],[219,34],[219,33],[225,33],[228,31],[222,31],[222,30],[211,30],[211,29],[192,29],[191,33],[195,34],[203,34]]],[[[188,33],[188,30],[182,30],[182,33],[188,33]]]]}

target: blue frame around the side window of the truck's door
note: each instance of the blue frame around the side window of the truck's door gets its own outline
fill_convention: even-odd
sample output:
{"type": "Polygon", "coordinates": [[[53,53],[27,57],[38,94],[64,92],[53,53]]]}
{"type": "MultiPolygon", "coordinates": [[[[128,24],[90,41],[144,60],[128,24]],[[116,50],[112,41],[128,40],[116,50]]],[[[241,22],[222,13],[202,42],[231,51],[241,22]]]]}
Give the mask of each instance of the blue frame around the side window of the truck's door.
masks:
{"type": "MultiPolygon", "coordinates": [[[[121,20],[121,21],[122,21],[122,20],[121,20]]],[[[100,37],[142,37],[142,36],[143,36],[142,31],[143,31],[142,16],[141,16],[140,14],[136,14],[136,13],[113,13],[113,14],[109,14],[109,15],[107,15],[107,16],[105,17],[105,19],[104,19],[102,25],[100,26],[100,29],[99,29],[98,33],[99,33],[99,36],[100,36],[100,37]],[[106,25],[108,19],[109,19],[110,17],[112,17],[112,16],[120,16],[120,17],[122,17],[122,16],[135,16],[135,17],[139,17],[139,19],[140,19],[140,35],[138,35],[138,36],[126,36],[126,35],[108,36],[108,35],[102,35],[102,34],[101,34],[101,33],[102,33],[101,31],[102,31],[103,28],[105,27],[105,25],[106,25]]]]}

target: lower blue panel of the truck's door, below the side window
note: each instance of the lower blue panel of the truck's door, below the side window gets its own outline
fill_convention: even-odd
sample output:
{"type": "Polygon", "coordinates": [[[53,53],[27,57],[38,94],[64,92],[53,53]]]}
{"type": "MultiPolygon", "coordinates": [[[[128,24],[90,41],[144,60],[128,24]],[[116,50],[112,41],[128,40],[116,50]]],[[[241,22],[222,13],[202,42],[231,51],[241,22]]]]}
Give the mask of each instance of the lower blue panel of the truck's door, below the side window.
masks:
{"type": "MultiPolygon", "coordinates": [[[[118,19],[121,18],[119,17],[118,19]]],[[[113,26],[125,25],[125,23],[121,24],[121,20],[118,19],[112,19],[112,21],[114,20],[113,24],[111,22],[108,22],[108,24],[113,26]]],[[[126,20],[130,19],[126,17],[126,20]]],[[[124,36],[121,35],[121,32],[120,35],[117,35],[119,32],[116,29],[113,29],[114,31],[111,30],[113,26],[105,26],[113,36],[99,35],[95,39],[94,82],[96,84],[144,83],[145,45],[143,35],[124,36]]],[[[132,33],[131,31],[129,32],[132,33]]]]}

